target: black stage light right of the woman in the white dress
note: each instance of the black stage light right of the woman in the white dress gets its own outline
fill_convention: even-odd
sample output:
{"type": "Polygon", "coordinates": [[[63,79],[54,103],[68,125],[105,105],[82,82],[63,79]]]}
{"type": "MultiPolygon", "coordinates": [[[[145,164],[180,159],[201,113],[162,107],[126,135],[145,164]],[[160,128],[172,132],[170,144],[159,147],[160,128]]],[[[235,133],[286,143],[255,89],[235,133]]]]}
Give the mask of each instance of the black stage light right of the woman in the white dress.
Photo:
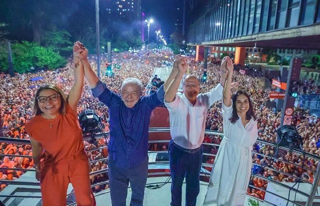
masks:
{"type": "Polygon", "coordinates": [[[302,137],[294,126],[282,125],[277,129],[277,140],[280,146],[288,147],[290,151],[298,149],[303,152],[302,137]]]}

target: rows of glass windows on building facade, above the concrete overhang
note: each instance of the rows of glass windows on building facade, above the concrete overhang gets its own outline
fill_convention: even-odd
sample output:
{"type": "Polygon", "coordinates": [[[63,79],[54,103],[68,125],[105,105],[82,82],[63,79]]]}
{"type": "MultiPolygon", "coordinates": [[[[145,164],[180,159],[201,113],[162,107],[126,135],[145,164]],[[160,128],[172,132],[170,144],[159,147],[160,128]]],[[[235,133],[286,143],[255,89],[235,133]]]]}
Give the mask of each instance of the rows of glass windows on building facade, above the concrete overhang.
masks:
{"type": "Polygon", "coordinates": [[[189,44],[320,27],[319,0],[190,0],[188,8],[189,44]]]}

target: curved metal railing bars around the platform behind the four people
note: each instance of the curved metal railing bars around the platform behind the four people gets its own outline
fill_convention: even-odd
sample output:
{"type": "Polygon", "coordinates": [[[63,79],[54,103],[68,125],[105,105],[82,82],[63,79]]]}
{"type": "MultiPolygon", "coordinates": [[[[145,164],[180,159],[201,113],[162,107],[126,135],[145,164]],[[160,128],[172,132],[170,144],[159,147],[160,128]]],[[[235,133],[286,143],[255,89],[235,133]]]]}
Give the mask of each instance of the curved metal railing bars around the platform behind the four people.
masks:
{"type": "MultiPolygon", "coordinates": [[[[170,132],[170,129],[169,128],[150,128],[149,129],[149,132],[152,133],[152,132],[158,132],[160,135],[159,137],[161,137],[161,133],[166,133],[166,132],[170,132]]],[[[206,135],[209,135],[209,138],[215,138],[215,136],[223,136],[223,133],[222,132],[216,132],[216,131],[211,131],[211,130],[205,130],[205,134],[206,135]]],[[[94,138],[104,138],[105,136],[109,136],[110,133],[109,132],[106,132],[106,133],[97,133],[95,134],[94,138]]],[[[87,136],[84,136],[83,139],[84,140],[89,140],[91,138],[90,135],[87,135],[87,136]]],[[[14,144],[17,144],[17,145],[26,145],[26,144],[31,144],[29,140],[26,140],[26,139],[13,139],[13,138],[6,138],[6,137],[0,137],[0,142],[6,142],[6,143],[14,143],[14,144]]],[[[153,143],[158,143],[158,144],[166,144],[168,143],[169,140],[161,140],[159,138],[159,140],[153,140],[153,141],[149,141],[150,144],[153,144],[153,143]]],[[[282,147],[282,146],[278,146],[274,143],[270,143],[270,142],[266,142],[266,141],[262,141],[262,140],[257,140],[258,144],[261,144],[261,145],[264,145],[265,147],[268,146],[269,150],[270,151],[274,151],[275,148],[278,148],[278,151],[281,151],[282,152],[282,155],[285,153],[285,152],[289,152],[289,149],[286,148],[286,147],[282,147]]],[[[204,147],[219,147],[219,144],[213,144],[213,143],[203,143],[204,147]]],[[[95,150],[101,150],[101,149],[105,149],[106,146],[103,145],[102,147],[99,147],[99,148],[93,148],[93,149],[90,149],[90,150],[87,150],[88,152],[93,152],[95,150]]],[[[156,151],[157,152],[157,151],[156,151]]],[[[290,151],[291,152],[291,151],[290,151]]],[[[304,158],[302,159],[303,163],[302,165],[298,165],[294,162],[291,162],[291,161],[287,161],[283,158],[279,158],[279,154],[278,152],[274,151],[273,152],[273,155],[269,154],[269,155],[265,155],[265,154],[262,154],[262,153],[259,153],[257,151],[252,151],[252,155],[257,155],[257,156],[261,156],[262,158],[265,158],[267,159],[268,163],[267,164],[258,164],[258,163],[253,163],[253,167],[259,167],[260,168],[260,171],[263,170],[267,170],[267,171],[273,171],[273,172],[277,172],[277,173],[281,173],[285,176],[287,176],[288,178],[294,178],[297,180],[297,182],[295,182],[295,184],[293,186],[290,186],[288,185],[287,183],[284,183],[284,182],[281,182],[277,179],[270,179],[270,178],[267,178],[265,177],[263,174],[261,174],[261,172],[253,172],[251,173],[251,181],[249,183],[249,187],[250,188],[255,188],[257,190],[260,190],[260,191],[263,191],[266,193],[266,195],[274,195],[278,198],[282,198],[284,199],[285,201],[287,202],[291,202],[295,205],[305,205],[305,206],[311,206],[312,205],[312,202],[314,199],[320,199],[320,196],[319,194],[317,194],[317,188],[318,188],[318,182],[320,180],[320,164],[317,163],[317,167],[316,169],[312,169],[312,168],[307,168],[304,165],[304,160],[306,158],[312,158],[314,159],[315,161],[314,162],[319,162],[320,161],[320,157],[319,156],[316,156],[316,155],[312,155],[312,154],[309,154],[309,153],[303,153],[301,151],[298,151],[298,150],[293,150],[292,151],[292,155],[293,154],[296,154],[298,155],[299,158],[304,158]],[[301,157],[302,156],[302,157],[301,157]],[[274,168],[272,167],[272,165],[270,165],[270,162],[271,161],[279,161],[279,162],[282,162],[283,164],[287,164],[289,165],[290,167],[292,168],[295,168],[295,169],[300,169],[302,170],[300,173],[302,175],[303,171],[307,171],[307,172],[310,172],[313,174],[314,178],[313,178],[313,181],[312,182],[309,182],[303,178],[301,178],[301,175],[300,176],[296,176],[294,174],[291,174],[291,173],[288,173],[288,172],[284,172],[284,171],[281,171],[281,170],[278,170],[277,168],[274,168]],[[302,195],[305,197],[305,201],[294,201],[292,199],[290,199],[290,196],[287,197],[287,196],[281,196],[280,194],[276,193],[276,192],[272,192],[270,190],[267,190],[267,188],[265,187],[258,187],[257,185],[254,185],[253,184],[253,179],[254,178],[258,178],[258,179],[261,179],[265,182],[267,182],[266,184],[274,184],[274,185],[277,185],[279,187],[281,187],[281,189],[283,189],[283,191],[289,191],[292,192],[294,195],[296,194],[299,194],[299,195],[302,195]],[[308,184],[310,186],[310,189],[309,189],[309,192],[307,192],[305,189],[304,190],[301,190],[299,189],[299,184],[308,184]],[[305,202],[305,204],[303,204],[305,202]]],[[[31,156],[27,156],[27,155],[14,155],[14,154],[0,154],[0,156],[8,156],[8,157],[24,157],[24,158],[32,158],[31,156]]],[[[212,156],[216,156],[216,154],[212,154],[212,153],[209,153],[209,152],[204,152],[203,153],[203,157],[205,156],[209,156],[209,157],[212,157],[212,156]]],[[[205,159],[205,158],[204,158],[205,159]]],[[[102,158],[102,159],[98,159],[98,160],[93,160],[93,161],[90,161],[90,165],[92,164],[95,164],[96,162],[100,162],[100,161],[108,161],[108,157],[106,158],[102,158]]],[[[152,165],[152,164],[155,164],[155,163],[163,163],[163,164],[169,164],[168,161],[157,161],[157,162],[149,162],[149,165],[152,165]]],[[[212,164],[209,164],[209,163],[205,163],[203,162],[203,167],[206,167],[206,168],[212,168],[212,164]]],[[[22,169],[22,168],[0,168],[2,170],[22,170],[22,171],[35,171],[35,169],[22,169]]],[[[101,170],[97,170],[97,171],[93,171],[90,173],[90,176],[94,176],[94,175],[99,175],[99,174],[103,174],[103,173],[106,173],[108,172],[108,168],[104,168],[104,169],[101,169],[101,170]]],[[[209,172],[208,171],[202,171],[201,172],[201,176],[204,176],[204,177],[209,177],[209,172]]],[[[170,175],[170,172],[169,171],[156,171],[156,172],[150,172],[148,173],[149,177],[152,177],[152,176],[169,176],[170,175]]],[[[208,181],[209,178],[204,178],[204,181],[208,181]]],[[[159,182],[161,183],[161,182],[159,182]]],[[[15,184],[15,185],[24,185],[24,186],[38,186],[40,188],[40,183],[38,181],[21,181],[18,179],[12,181],[12,180],[4,180],[4,179],[0,179],[0,184],[15,184]]],[[[106,180],[106,181],[101,181],[101,182],[96,182],[94,184],[91,185],[91,187],[95,187],[95,186],[99,186],[99,185],[104,185],[104,184],[109,184],[109,181],[106,180]]],[[[103,193],[107,193],[109,192],[109,189],[106,189],[106,190],[103,190],[102,192],[99,192],[99,194],[103,194],[103,193]]],[[[71,191],[70,193],[68,193],[68,196],[70,195],[73,195],[73,191],[71,191]]],[[[249,195],[250,196],[250,195],[249,195]]],[[[6,197],[6,199],[8,198],[41,198],[40,195],[15,195],[15,194],[4,194],[3,192],[0,192],[0,198],[1,197],[6,197]]],[[[256,196],[250,196],[251,198],[254,198],[254,199],[258,199],[260,201],[264,201],[266,203],[269,203],[270,205],[276,205],[272,202],[270,202],[268,199],[261,199],[261,198],[258,198],[256,196]]],[[[70,206],[71,205],[75,205],[75,202],[69,204],[70,206]]]]}

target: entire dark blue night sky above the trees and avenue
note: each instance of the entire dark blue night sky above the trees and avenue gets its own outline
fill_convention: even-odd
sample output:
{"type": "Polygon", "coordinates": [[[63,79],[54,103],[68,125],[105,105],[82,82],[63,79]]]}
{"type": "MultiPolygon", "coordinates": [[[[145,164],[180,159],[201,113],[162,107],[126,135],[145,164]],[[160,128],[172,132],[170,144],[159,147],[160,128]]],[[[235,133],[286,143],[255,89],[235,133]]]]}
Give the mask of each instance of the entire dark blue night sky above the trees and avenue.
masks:
{"type": "MultiPolygon", "coordinates": [[[[115,0],[99,1],[101,35],[103,35],[101,31],[110,31],[108,27],[113,27],[103,20],[105,8],[108,8],[113,1],[115,0]]],[[[141,10],[145,13],[146,19],[154,20],[150,27],[150,42],[155,42],[155,32],[161,29],[161,34],[169,43],[170,35],[176,31],[177,23],[180,25],[179,32],[181,33],[182,9],[182,0],[142,0],[141,10]]],[[[53,29],[54,25],[57,25],[57,28],[67,30],[77,39],[80,34],[89,34],[91,30],[94,32],[95,3],[92,0],[55,0],[54,3],[48,0],[41,2],[2,0],[0,23],[7,25],[3,30],[9,32],[7,36],[9,39],[33,41],[32,24],[35,21],[40,22],[44,30],[53,29]]]]}

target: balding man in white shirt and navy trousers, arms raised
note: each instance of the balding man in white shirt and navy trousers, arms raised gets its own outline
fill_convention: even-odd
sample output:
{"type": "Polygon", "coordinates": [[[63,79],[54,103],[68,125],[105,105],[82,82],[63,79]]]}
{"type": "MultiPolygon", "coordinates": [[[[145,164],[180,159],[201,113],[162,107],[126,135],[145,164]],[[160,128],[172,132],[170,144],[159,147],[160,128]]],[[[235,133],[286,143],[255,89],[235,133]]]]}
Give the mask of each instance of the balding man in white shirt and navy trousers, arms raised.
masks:
{"type": "Polygon", "coordinates": [[[169,161],[172,178],[171,206],[181,206],[182,183],[186,178],[187,206],[195,206],[200,190],[199,175],[202,163],[202,141],[208,108],[222,99],[226,81],[226,59],[221,64],[220,84],[211,91],[200,93],[199,78],[188,75],[184,79],[183,94],[177,95],[180,81],[187,70],[187,62],[177,57],[178,73],[165,93],[165,105],[170,115],[169,161]]]}

